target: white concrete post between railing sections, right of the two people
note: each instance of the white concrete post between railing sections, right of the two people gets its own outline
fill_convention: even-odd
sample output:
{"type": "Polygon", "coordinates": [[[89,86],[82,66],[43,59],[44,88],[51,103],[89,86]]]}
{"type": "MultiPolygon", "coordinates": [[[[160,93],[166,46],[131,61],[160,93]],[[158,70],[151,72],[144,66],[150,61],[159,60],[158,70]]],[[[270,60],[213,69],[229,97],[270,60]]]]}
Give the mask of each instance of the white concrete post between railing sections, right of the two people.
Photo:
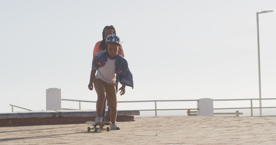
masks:
{"type": "Polygon", "coordinates": [[[214,116],[214,104],[211,98],[202,98],[197,102],[197,116],[214,116]]]}

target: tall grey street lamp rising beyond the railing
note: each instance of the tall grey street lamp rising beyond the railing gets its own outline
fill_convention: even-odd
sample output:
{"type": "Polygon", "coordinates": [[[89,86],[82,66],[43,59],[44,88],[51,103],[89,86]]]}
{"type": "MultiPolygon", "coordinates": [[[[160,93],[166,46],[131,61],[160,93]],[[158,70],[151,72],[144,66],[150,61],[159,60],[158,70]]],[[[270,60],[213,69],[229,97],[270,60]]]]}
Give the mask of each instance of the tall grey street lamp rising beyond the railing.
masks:
{"type": "MultiPolygon", "coordinates": [[[[259,41],[259,14],[273,12],[273,10],[256,12],[257,15],[257,41],[258,41],[258,66],[259,66],[259,98],[262,99],[261,94],[261,65],[260,65],[260,41],[259,41]]],[[[262,116],[262,100],[259,100],[260,103],[260,116],[262,116]]]]}

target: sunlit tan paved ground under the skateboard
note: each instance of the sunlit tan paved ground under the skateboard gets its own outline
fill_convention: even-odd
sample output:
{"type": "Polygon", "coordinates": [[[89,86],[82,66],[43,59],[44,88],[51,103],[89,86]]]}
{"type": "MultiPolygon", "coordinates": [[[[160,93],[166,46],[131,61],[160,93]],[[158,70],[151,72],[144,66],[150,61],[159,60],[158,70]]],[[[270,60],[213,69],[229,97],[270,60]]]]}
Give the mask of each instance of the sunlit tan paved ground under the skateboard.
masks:
{"type": "Polygon", "coordinates": [[[119,122],[121,130],[87,132],[86,124],[0,127],[0,144],[276,144],[276,117],[164,116],[119,122]]]}

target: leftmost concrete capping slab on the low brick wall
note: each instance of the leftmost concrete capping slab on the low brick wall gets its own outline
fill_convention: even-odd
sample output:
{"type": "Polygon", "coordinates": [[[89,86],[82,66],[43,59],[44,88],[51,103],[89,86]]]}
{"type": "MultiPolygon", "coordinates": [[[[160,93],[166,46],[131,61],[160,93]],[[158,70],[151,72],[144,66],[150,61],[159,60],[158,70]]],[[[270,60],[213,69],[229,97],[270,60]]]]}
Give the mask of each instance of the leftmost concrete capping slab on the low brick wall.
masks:
{"type": "Polygon", "coordinates": [[[21,119],[21,118],[58,118],[59,112],[53,110],[45,111],[18,111],[0,113],[0,119],[21,119]]]}

